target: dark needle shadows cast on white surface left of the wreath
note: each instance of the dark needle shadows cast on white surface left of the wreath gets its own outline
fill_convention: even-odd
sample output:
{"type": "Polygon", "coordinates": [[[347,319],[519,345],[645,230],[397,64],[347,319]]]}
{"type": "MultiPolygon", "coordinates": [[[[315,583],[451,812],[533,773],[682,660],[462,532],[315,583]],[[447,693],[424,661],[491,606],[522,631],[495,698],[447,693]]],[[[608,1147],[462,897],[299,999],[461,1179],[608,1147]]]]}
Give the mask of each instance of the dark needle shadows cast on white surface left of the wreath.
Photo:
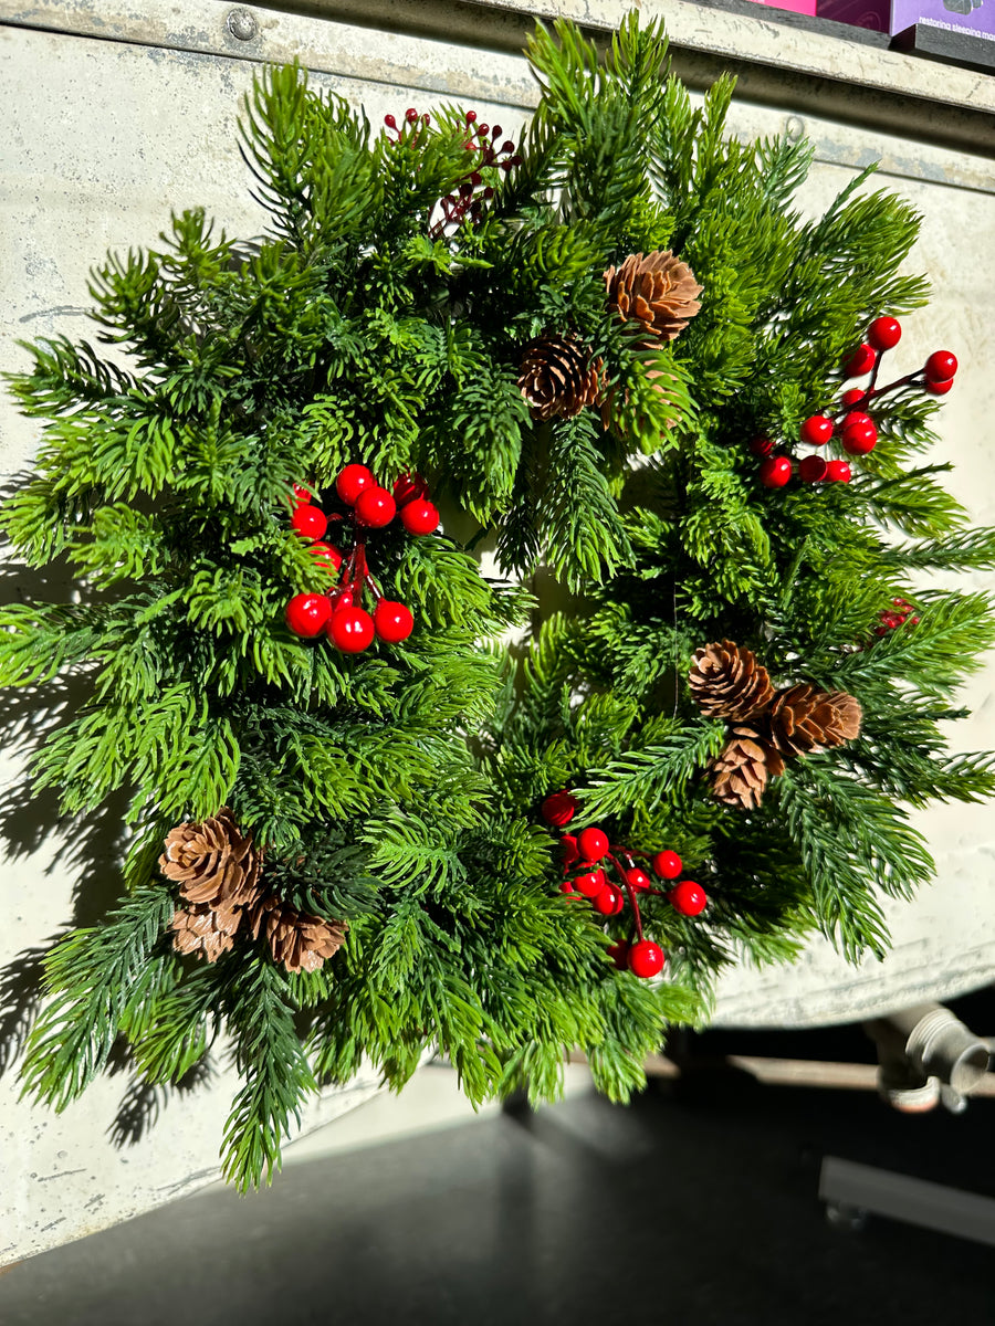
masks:
{"type": "MultiPolygon", "coordinates": [[[[7,501],[27,479],[17,475],[8,481],[0,489],[0,501],[7,501]]],[[[44,570],[11,562],[0,565],[0,605],[78,603],[84,595],[90,603],[110,598],[82,586],[65,564],[44,570]]],[[[89,696],[89,679],[81,671],[69,682],[60,676],[9,688],[0,707],[0,751],[13,768],[11,781],[0,788],[0,846],[8,862],[48,850],[44,875],[73,882],[65,930],[40,947],[21,949],[0,969],[0,1078],[17,1071],[44,1001],[46,955],[70,928],[96,926],[123,892],[127,792],[117,793],[88,814],[68,815],[60,806],[58,792],[38,788],[32,773],[32,756],[85,707],[89,696]]],[[[151,1085],[135,1070],[123,1041],[115,1045],[105,1071],[110,1077],[130,1075],[107,1128],[117,1147],[134,1146],[145,1136],[172,1095],[198,1090],[214,1078],[210,1061],[204,1061],[175,1085],[151,1085]]]]}

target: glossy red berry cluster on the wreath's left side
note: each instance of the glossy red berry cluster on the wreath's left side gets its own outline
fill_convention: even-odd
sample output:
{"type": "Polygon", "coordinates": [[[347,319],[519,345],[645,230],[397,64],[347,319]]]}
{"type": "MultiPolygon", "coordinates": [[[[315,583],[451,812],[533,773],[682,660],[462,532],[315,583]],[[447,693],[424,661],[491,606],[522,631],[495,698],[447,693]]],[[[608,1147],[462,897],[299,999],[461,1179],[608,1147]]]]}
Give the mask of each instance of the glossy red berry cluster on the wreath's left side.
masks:
{"type": "Polygon", "coordinates": [[[369,648],[374,635],[386,644],[407,639],[414,629],[411,611],[403,603],[385,598],[366,560],[366,538],[371,529],[385,529],[398,508],[401,524],[409,534],[431,534],[439,524],[439,513],[426,492],[425,480],[418,475],[402,475],[393,492],[387,492],[366,465],[346,465],[336,479],[336,496],[345,511],[328,517],[312,503],[306,488],[293,485],[296,507],[291,524],[310,541],[312,554],[328,568],[333,579],[342,569],[338,583],[326,594],[293,595],[285,617],[295,635],[313,639],[325,631],[344,654],[360,654],[369,648]],[[333,544],[321,542],[329,518],[341,522],[342,532],[349,534],[345,556],[333,544]],[[373,599],[373,615],[362,606],[364,591],[373,599]]]}

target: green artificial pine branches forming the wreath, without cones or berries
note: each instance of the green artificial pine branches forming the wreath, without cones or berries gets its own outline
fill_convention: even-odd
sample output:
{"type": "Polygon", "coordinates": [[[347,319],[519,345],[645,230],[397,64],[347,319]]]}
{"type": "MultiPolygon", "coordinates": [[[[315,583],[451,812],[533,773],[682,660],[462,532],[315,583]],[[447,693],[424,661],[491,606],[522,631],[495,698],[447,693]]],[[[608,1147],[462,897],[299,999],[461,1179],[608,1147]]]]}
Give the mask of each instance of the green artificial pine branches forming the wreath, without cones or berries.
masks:
{"type": "Polygon", "coordinates": [[[65,1106],[119,1037],[147,1082],[178,1081],[224,1033],[241,1187],[364,1057],[399,1086],[439,1046],[474,1101],[523,1082],[543,1099],[580,1046],[625,1099],[735,956],[787,959],[816,930],[884,952],[881,894],[931,873],[903,804],[995,785],[941,728],[992,642],[991,603],[910,582],[995,565],[995,532],[968,529],[946,467],[922,460],[937,402],[890,396],[850,484],[769,491],[748,450],[797,438],[868,322],[925,302],[902,274],[915,213],[865,172],[803,220],[811,147],[731,138],[732,82],[693,103],[655,25],[626,20],[608,52],[540,27],[529,58],[541,99],[507,168],[479,156],[467,107],[383,131],[300,69],[268,70],[243,118],[267,235],[174,217],[159,251],[93,276],[98,339],[118,349],[44,342],[11,379],[41,444],[7,533],[82,593],[4,609],[0,680],[82,687],[37,784],[66,814],[125,796],[130,842],[117,910],[48,959],[27,1087],[65,1106]],[[468,160],[488,195],[447,221],[468,160]],[[704,293],[647,347],[602,273],[658,249],[704,293]],[[548,334],[601,362],[601,407],[532,418],[519,365],[548,334]],[[383,533],[377,574],[417,626],[354,658],[283,617],[328,586],[289,526],[293,484],[328,489],[350,461],[386,484],[426,475],[466,536],[383,533]],[[543,568],[569,609],[540,622],[524,587],[482,575],[488,540],[511,579],[543,568]],[[919,621],[876,636],[898,595],[919,621]],[[529,614],[524,646],[498,643],[529,614]],[[779,684],[864,708],[858,740],[795,761],[751,813],[710,796],[724,724],[686,686],[693,651],[724,638],[779,684]],[[662,983],[606,956],[624,919],[557,890],[539,806],[565,785],[578,823],[678,850],[710,894],[694,919],[645,899],[662,983]],[[284,898],[349,922],[320,971],[245,936],[214,964],[172,949],[163,839],[222,806],[284,898]]]}

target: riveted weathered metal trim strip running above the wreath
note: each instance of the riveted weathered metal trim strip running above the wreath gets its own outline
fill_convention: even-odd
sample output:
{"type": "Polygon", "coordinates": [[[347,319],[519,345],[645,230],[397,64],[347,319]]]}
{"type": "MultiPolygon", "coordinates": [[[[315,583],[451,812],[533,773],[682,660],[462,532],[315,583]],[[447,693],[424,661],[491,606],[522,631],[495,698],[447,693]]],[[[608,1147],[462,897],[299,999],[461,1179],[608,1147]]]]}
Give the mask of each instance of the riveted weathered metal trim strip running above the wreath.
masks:
{"type": "MultiPolygon", "coordinates": [[[[630,8],[629,0],[301,0],[281,5],[232,5],[218,0],[0,0],[0,25],[44,28],[107,41],[195,50],[237,60],[300,58],[309,68],[378,82],[483,97],[458,61],[439,89],[431,62],[418,58],[418,42],[459,50],[517,52],[535,17],[574,19],[606,33],[630,8]],[[253,29],[255,24],[255,29],[253,29]],[[379,58],[357,62],[342,49],[348,27],[382,29],[379,58]],[[415,48],[391,50],[401,34],[415,48]]],[[[646,17],[666,21],[674,68],[693,86],[707,86],[723,70],[739,80],[742,98],[821,115],[862,127],[995,155],[995,80],[968,69],[842,41],[824,32],[769,21],[763,13],[643,0],[646,17]]],[[[349,42],[345,42],[348,46],[349,42]]],[[[472,60],[470,61],[472,64],[472,60]]],[[[513,80],[512,80],[513,82],[513,80]]],[[[527,82],[490,88],[487,99],[531,106],[527,82]]]]}

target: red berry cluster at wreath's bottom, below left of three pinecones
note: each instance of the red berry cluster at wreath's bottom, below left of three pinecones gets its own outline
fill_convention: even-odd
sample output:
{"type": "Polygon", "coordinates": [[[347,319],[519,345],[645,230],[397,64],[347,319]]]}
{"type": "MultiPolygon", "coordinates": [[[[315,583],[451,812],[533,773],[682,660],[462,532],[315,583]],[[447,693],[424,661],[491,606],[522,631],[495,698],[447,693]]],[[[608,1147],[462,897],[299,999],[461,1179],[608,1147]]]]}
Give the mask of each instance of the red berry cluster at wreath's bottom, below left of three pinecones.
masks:
{"type": "MultiPolygon", "coordinates": [[[[577,810],[576,797],[566,790],[553,792],[541,806],[543,818],[555,829],[565,829],[577,810]]],[[[620,940],[609,948],[616,967],[620,971],[628,967],[635,976],[642,977],[659,975],[666,957],[659,944],[643,936],[638,895],[666,896],[674,911],[682,916],[698,916],[708,903],[704,890],[693,879],[682,879],[669,890],[654,888],[651,876],[635,863],[637,857],[647,858],[647,854],[614,846],[597,825],[581,829],[578,834],[564,834],[560,846],[564,866],[561,894],[586,898],[593,910],[605,918],[617,916],[624,911],[626,900],[631,907],[637,937],[620,940]],[[605,861],[614,871],[614,880],[609,879],[601,865],[605,861]]],[[[683,866],[675,851],[658,851],[647,859],[661,879],[673,880],[682,874],[683,866]]]]}

